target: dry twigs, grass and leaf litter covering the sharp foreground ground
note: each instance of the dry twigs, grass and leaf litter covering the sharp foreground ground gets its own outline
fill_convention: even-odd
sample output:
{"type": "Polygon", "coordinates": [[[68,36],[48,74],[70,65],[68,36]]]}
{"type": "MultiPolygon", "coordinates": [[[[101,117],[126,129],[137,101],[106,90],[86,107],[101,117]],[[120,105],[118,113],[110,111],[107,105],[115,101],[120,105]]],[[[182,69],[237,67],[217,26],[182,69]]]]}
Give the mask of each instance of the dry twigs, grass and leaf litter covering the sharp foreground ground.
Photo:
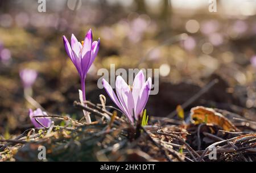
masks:
{"type": "MultiPolygon", "coordinates": [[[[100,118],[99,121],[32,128],[13,140],[1,139],[1,161],[39,161],[39,146],[46,147],[47,161],[256,161],[255,129],[236,130],[236,126],[230,125],[235,120],[229,121],[210,108],[191,109],[192,117],[207,113],[207,121],[183,124],[175,120],[180,121],[176,125],[174,119],[150,116],[148,125],[136,131],[116,111],[112,114],[94,104],[74,104],[100,118]],[[228,123],[218,124],[219,117],[228,123]],[[209,159],[212,147],[216,149],[216,159],[209,159]]],[[[63,120],[66,124],[77,122],[64,117],[63,120]]]]}

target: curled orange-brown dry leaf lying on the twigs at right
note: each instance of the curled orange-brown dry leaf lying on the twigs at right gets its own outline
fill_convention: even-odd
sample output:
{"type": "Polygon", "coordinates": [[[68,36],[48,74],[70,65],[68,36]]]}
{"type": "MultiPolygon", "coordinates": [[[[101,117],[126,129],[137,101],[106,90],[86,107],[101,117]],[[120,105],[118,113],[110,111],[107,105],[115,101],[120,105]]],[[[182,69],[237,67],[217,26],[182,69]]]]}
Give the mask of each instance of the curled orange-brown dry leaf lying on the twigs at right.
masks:
{"type": "Polygon", "coordinates": [[[231,123],[221,113],[214,111],[212,108],[197,106],[191,109],[191,119],[194,124],[206,123],[220,126],[226,131],[240,132],[233,123],[231,123]]]}

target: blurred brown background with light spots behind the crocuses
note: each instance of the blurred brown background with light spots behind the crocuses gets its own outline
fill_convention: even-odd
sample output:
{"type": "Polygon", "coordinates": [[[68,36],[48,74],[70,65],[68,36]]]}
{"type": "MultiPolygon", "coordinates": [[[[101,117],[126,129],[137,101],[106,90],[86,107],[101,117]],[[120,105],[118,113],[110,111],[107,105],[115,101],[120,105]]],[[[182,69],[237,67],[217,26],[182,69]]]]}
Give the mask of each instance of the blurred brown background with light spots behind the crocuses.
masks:
{"type": "MultiPolygon", "coordinates": [[[[100,103],[97,70],[159,69],[159,93],[148,115],[167,116],[213,79],[191,103],[255,116],[256,1],[253,0],[0,0],[0,134],[32,126],[19,71],[38,71],[33,98],[47,111],[80,119],[73,107],[80,79],[62,36],[84,40],[89,28],[100,50],[86,78],[86,98],[100,103]],[[216,12],[209,10],[216,2],[216,12]]],[[[113,105],[114,106],[114,105],[113,105]]]]}

